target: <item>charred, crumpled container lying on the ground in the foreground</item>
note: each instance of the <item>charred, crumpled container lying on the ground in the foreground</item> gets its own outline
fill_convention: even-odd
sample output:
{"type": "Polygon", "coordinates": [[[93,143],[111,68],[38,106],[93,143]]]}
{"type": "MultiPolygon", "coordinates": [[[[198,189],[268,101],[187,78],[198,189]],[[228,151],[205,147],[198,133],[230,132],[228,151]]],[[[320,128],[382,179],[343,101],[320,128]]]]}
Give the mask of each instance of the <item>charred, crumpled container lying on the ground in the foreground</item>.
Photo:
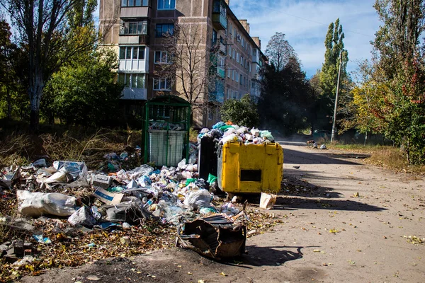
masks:
{"type": "Polygon", "coordinates": [[[188,221],[177,229],[177,244],[215,260],[245,253],[246,227],[225,214],[188,221]]]}

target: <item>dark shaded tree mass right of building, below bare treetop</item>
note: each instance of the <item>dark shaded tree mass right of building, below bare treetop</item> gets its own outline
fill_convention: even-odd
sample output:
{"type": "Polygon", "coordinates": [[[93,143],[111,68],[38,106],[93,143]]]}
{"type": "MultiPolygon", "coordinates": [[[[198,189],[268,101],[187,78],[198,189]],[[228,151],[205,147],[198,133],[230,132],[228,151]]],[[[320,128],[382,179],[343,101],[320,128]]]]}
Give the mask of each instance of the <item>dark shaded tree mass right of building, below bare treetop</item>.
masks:
{"type": "Polygon", "coordinates": [[[290,58],[281,71],[273,65],[266,67],[262,85],[261,127],[294,134],[308,126],[314,105],[313,92],[296,58],[290,58]]]}

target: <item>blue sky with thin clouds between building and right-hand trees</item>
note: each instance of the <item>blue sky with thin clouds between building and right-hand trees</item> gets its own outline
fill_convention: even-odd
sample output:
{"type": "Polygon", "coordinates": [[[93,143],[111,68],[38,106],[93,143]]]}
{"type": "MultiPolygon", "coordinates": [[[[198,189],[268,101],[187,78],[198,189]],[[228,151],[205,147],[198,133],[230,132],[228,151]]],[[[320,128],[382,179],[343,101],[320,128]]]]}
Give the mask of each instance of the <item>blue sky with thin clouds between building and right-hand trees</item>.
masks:
{"type": "Polygon", "coordinates": [[[302,69],[310,77],[322,67],[324,37],[329,23],[336,18],[345,34],[347,71],[355,71],[359,60],[370,59],[370,41],[380,25],[374,3],[374,0],[230,0],[230,8],[237,18],[248,20],[250,35],[260,37],[263,52],[271,36],[285,33],[302,69]]]}

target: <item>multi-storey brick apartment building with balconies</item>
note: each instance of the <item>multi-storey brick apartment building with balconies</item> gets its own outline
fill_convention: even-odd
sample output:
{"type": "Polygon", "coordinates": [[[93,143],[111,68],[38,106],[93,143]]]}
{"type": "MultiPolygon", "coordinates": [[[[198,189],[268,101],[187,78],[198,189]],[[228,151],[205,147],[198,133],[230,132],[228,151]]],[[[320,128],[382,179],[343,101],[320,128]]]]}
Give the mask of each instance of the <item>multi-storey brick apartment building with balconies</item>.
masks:
{"type": "Polygon", "coordinates": [[[229,0],[101,0],[99,23],[106,35],[103,45],[119,58],[118,80],[125,83],[122,99],[128,103],[182,93],[179,81],[156,72],[170,61],[164,36],[173,34],[177,24],[196,26],[203,38],[201,48],[214,50],[205,61],[215,62],[217,79],[214,88],[205,88],[203,100],[215,101],[194,113],[194,125],[211,127],[220,120],[217,105],[226,99],[260,95],[259,71],[266,57],[259,37],[249,35],[249,23],[234,15],[229,0]]]}

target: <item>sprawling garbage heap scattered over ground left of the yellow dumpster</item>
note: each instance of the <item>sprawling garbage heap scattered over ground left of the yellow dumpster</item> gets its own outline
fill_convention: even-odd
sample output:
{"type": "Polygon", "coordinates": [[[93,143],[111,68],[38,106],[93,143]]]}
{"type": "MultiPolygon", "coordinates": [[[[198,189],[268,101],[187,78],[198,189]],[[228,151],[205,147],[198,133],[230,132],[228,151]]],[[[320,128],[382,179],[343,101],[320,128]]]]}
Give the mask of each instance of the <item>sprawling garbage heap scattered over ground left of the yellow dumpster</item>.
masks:
{"type": "MultiPolygon", "coordinates": [[[[113,153],[105,155],[106,163],[113,166],[103,166],[101,171],[89,171],[82,161],[50,163],[48,158],[29,166],[1,169],[0,226],[16,233],[0,234],[0,241],[4,242],[0,242],[3,247],[0,258],[8,255],[11,249],[7,238],[10,235],[35,246],[31,252],[28,249],[32,260],[22,260],[21,253],[9,252],[8,262],[26,262],[14,268],[28,272],[27,267],[40,270],[76,265],[69,258],[77,259],[87,253],[92,259],[100,259],[122,256],[123,250],[126,255],[132,255],[168,248],[174,244],[170,239],[179,236],[175,230],[179,225],[196,219],[214,225],[211,219],[205,220],[208,216],[234,217],[233,228],[255,226],[249,236],[279,223],[278,220],[270,221],[269,216],[259,211],[249,212],[248,216],[236,204],[217,197],[217,176],[208,174],[208,178],[199,178],[198,164],[191,163],[198,156],[196,146],[191,146],[189,151],[192,158],[181,160],[176,167],[153,168],[143,164],[126,170],[122,162],[128,154],[113,153]],[[13,215],[14,210],[21,218],[7,216],[13,215]],[[5,247],[6,252],[3,251],[5,247]],[[54,253],[63,253],[65,248],[72,253],[46,263],[46,258],[55,258],[54,253]],[[98,248],[102,253],[90,252],[98,248]]],[[[225,229],[223,233],[227,231],[225,227],[222,229],[225,229]]],[[[238,230],[236,238],[240,241],[246,237],[244,229],[238,230]]],[[[185,233],[183,229],[180,231],[182,235],[185,233]]],[[[218,246],[222,241],[220,248],[226,247],[227,238],[216,240],[218,246]]],[[[232,248],[235,253],[244,252],[240,241],[237,243],[239,250],[232,248]]],[[[217,259],[232,256],[213,249],[211,255],[217,259]]],[[[84,262],[77,261],[77,265],[84,262]]],[[[9,275],[12,276],[10,272],[9,275]]]]}

